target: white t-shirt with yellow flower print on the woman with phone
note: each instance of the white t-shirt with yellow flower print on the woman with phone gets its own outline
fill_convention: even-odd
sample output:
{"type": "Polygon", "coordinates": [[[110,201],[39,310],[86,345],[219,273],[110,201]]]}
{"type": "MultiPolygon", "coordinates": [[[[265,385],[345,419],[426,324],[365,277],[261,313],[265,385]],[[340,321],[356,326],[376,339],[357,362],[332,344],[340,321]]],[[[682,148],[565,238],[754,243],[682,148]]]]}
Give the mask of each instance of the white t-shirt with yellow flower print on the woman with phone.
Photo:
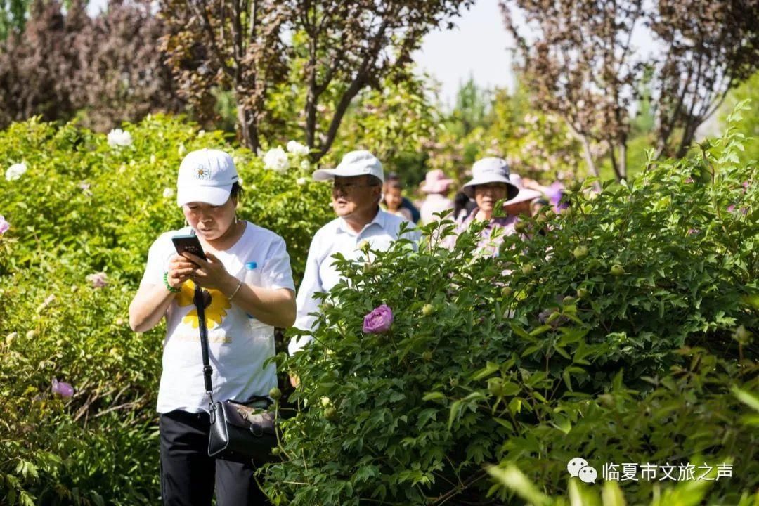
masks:
{"type": "MultiPolygon", "coordinates": [[[[168,260],[176,254],[172,236],[190,233],[190,227],[170,231],[153,243],[140,284],[163,284],[168,260]]],[[[245,231],[235,245],[216,256],[229,274],[247,284],[294,291],[285,240],[266,228],[246,222],[245,231]]],[[[268,394],[277,385],[276,366],[273,363],[263,366],[275,354],[274,328],[247,316],[221,291],[209,293],[206,326],[214,400],[246,401],[254,395],[268,394]]],[[[208,408],[193,294],[194,284],[187,281],[166,313],[159,413],[173,410],[200,413],[208,408]]]]}

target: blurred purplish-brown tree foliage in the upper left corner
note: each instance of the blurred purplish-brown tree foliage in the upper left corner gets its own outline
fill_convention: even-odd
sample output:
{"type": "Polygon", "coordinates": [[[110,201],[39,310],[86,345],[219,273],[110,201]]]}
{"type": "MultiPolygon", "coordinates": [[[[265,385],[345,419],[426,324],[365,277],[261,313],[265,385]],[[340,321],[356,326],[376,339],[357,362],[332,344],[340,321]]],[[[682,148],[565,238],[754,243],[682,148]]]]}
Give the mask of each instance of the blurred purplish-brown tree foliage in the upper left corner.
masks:
{"type": "Polygon", "coordinates": [[[78,0],[36,0],[23,31],[0,42],[0,126],[41,115],[106,131],[184,102],[158,47],[150,2],[112,0],[90,17],[78,0]]]}

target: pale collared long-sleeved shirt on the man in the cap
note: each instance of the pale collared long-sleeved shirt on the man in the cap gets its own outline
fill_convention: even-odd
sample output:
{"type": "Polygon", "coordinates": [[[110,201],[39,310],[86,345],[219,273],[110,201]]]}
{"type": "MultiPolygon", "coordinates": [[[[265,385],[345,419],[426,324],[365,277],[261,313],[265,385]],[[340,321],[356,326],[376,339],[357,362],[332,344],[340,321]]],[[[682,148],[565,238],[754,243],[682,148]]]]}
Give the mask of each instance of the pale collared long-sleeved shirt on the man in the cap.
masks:
{"type": "MultiPolygon", "coordinates": [[[[317,313],[320,303],[319,300],[314,300],[313,294],[327,292],[340,281],[340,273],[333,265],[335,260],[332,256],[335,253],[340,253],[345,259],[361,259],[364,253],[358,249],[358,244],[363,240],[367,240],[372,250],[389,250],[393,241],[398,239],[398,231],[404,222],[404,218],[379,209],[374,219],[358,233],[353,231],[343,218],[335,218],[320,228],[313,236],[308,250],[306,270],[296,298],[298,316],[294,326],[301,330],[310,330],[317,317],[308,313],[317,313]]],[[[409,228],[411,226],[413,224],[408,225],[409,228]]],[[[409,231],[404,237],[418,243],[420,233],[416,230],[409,231]]],[[[300,340],[292,338],[288,351],[292,355],[310,341],[313,341],[311,336],[303,336],[300,340]]]]}

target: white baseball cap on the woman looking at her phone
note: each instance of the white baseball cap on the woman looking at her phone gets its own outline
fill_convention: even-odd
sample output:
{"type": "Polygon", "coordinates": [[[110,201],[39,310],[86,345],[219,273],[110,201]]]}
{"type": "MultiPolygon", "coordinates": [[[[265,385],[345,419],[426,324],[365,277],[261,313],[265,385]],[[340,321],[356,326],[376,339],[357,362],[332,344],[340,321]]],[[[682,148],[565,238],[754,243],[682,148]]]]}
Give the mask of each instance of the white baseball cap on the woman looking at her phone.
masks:
{"type": "Polygon", "coordinates": [[[177,175],[177,204],[203,202],[221,206],[229,199],[232,184],[238,181],[232,157],[220,149],[188,152],[177,175]]]}

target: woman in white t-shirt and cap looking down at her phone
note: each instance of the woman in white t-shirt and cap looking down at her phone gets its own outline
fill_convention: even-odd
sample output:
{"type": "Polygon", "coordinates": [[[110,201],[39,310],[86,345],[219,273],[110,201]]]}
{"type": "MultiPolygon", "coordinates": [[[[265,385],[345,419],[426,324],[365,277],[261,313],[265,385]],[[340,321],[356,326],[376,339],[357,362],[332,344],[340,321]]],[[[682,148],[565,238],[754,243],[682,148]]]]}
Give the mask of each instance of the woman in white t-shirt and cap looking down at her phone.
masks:
{"type": "Polygon", "coordinates": [[[167,505],[268,504],[253,464],[208,456],[209,413],[203,384],[195,285],[210,295],[205,308],[216,401],[247,401],[277,385],[274,327],[295,319],[290,257],[282,237],[238,220],[241,196],[231,156],[218,149],[187,154],[179,166],[177,203],[188,226],[162,234],[150,247],[129,324],[146,332],[166,318],[158,393],[161,495],[167,505]],[[197,235],[206,259],[172,237],[197,235]]]}

